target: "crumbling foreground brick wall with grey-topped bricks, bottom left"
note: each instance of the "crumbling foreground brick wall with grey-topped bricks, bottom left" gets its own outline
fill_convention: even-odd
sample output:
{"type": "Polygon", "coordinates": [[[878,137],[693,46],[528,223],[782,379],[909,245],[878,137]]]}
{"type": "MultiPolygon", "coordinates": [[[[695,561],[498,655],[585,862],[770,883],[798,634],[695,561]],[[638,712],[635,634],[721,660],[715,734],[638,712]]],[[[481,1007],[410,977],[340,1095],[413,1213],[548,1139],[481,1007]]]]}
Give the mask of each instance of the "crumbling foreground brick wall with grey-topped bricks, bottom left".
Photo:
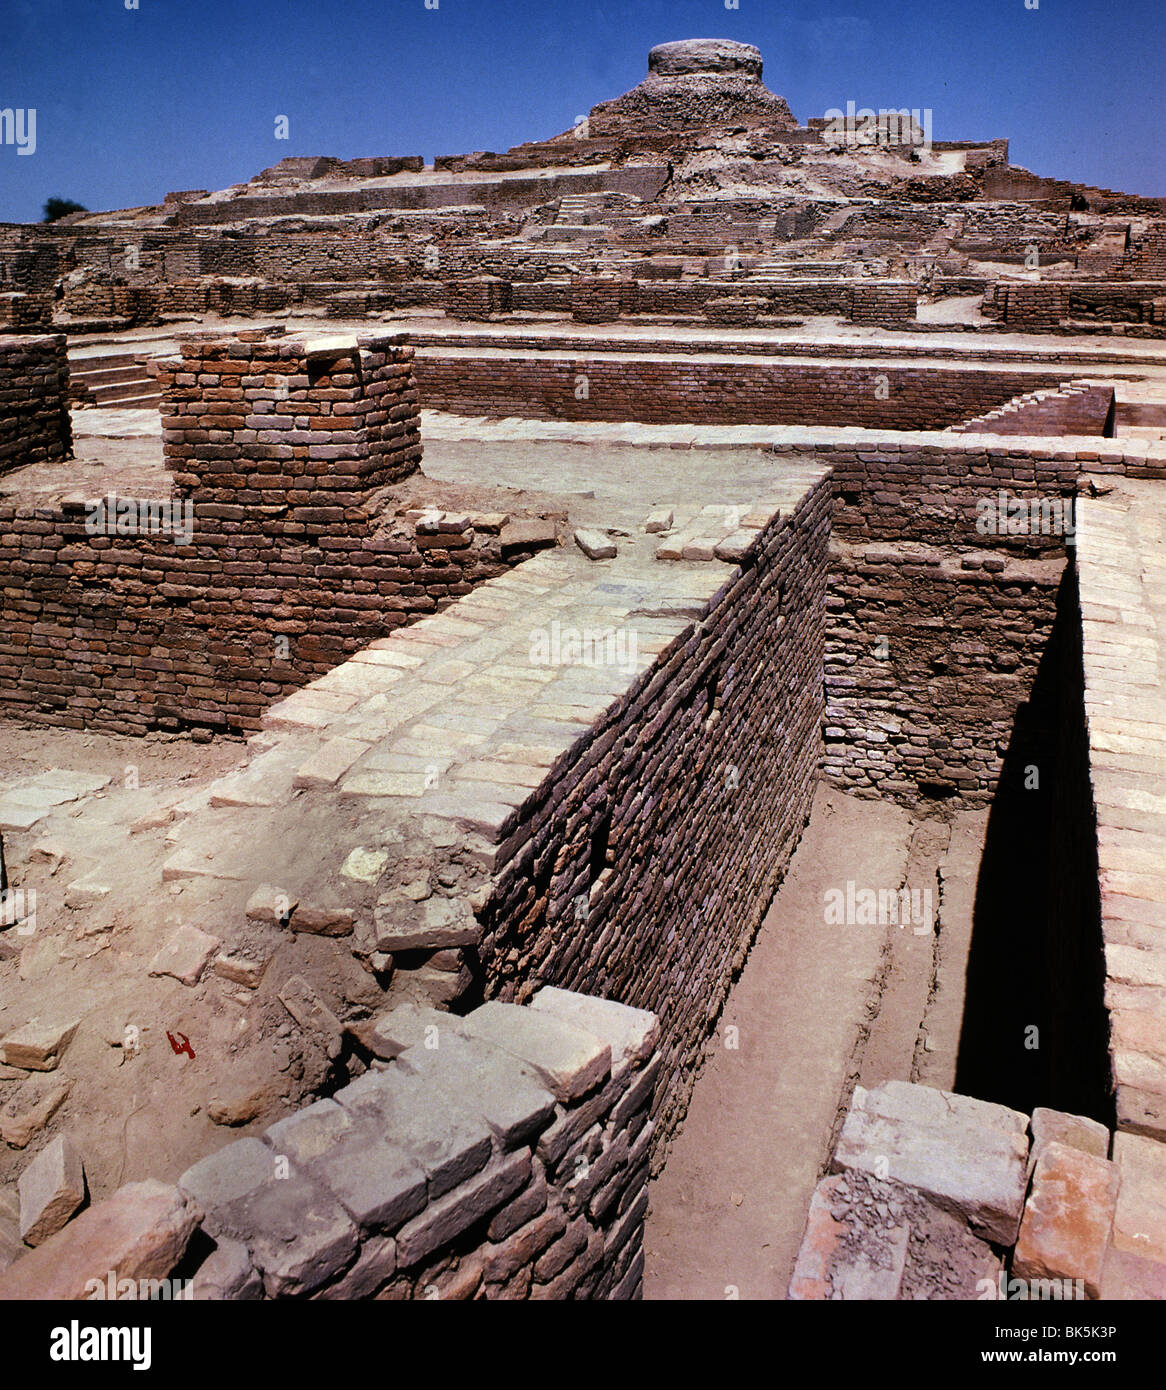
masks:
{"type": "Polygon", "coordinates": [[[389,1023],[392,1063],[176,1187],[120,1188],[18,1259],[0,1298],[104,1284],[111,1220],[154,1251],[156,1276],[182,1261],[196,1301],[639,1298],[652,1015],[543,990],[527,1009],[389,1023]]]}

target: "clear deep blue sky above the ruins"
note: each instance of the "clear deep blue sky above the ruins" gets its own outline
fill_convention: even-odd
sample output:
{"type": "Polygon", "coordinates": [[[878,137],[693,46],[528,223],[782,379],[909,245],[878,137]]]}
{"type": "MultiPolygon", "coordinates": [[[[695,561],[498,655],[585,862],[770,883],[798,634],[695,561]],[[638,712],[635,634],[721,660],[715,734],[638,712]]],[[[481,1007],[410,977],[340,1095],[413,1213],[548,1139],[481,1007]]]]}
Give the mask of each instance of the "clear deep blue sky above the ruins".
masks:
{"type": "Polygon", "coordinates": [[[802,122],[930,107],[937,140],[1008,136],[1037,174],[1166,196],[1163,0],[0,0],[0,107],[36,110],[35,153],[0,143],[0,221],[288,154],[545,139],[684,38],[756,43],[802,122]]]}

